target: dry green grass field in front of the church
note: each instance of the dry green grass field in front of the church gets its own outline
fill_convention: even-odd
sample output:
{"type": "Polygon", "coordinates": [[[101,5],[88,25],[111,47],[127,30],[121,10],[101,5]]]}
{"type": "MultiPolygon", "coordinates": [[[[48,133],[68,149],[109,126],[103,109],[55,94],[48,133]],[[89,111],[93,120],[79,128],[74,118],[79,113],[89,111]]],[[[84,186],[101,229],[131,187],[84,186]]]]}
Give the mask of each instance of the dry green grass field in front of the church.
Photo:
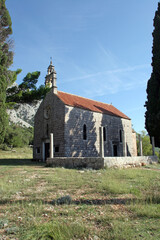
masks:
{"type": "Polygon", "coordinates": [[[0,151],[0,239],[160,239],[159,165],[75,170],[31,157],[0,151]]]}

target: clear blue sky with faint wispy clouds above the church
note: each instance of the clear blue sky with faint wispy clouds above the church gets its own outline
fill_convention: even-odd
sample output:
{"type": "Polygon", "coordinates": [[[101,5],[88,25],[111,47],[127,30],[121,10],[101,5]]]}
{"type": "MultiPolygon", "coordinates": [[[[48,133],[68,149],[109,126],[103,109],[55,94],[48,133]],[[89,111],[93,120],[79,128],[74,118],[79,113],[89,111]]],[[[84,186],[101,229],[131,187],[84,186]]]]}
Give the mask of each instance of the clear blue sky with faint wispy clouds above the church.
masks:
{"type": "Polygon", "coordinates": [[[112,103],[144,129],[158,0],[6,0],[12,19],[17,82],[50,57],[58,90],[112,103]]]}

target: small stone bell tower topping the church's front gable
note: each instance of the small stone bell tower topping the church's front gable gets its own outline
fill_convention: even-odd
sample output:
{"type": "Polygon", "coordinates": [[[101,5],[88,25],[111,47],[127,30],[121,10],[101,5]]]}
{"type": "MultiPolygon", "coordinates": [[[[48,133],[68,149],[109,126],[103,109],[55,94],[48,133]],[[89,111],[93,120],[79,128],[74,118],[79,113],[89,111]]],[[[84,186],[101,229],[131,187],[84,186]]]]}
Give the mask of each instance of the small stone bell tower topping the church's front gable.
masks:
{"type": "Polygon", "coordinates": [[[57,94],[57,73],[52,65],[52,58],[50,60],[50,65],[47,69],[47,75],[45,77],[45,86],[52,87],[53,93],[57,94]]]}

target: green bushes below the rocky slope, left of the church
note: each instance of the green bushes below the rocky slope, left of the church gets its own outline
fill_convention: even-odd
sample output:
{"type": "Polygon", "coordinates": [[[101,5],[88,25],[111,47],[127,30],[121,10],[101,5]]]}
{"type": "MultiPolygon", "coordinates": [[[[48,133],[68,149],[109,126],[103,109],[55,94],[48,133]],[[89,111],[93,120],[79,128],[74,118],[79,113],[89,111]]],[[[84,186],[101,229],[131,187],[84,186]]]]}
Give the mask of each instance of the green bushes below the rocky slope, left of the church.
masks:
{"type": "Polygon", "coordinates": [[[12,147],[24,147],[33,144],[33,128],[23,128],[15,124],[9,125],[4,144],[12,147]]]}

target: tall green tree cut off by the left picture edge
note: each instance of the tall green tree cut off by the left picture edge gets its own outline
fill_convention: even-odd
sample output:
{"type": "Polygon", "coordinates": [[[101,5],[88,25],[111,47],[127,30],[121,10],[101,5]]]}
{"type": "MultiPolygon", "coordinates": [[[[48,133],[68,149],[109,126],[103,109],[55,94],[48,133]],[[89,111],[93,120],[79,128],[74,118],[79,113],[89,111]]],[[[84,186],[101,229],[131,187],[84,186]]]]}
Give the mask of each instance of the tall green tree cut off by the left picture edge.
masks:
{"type": "Polygon", "coordinates": [[[8,126],[6,89],[11,79],[13,79],[13,75],[15,75],[8,70],[13,61],[13,52],[11,51],[12,41],[9,39],[11,34],[11,18],[6,8],[5,0],[0,0],[0,143],[4,140],[8,126]]]}

